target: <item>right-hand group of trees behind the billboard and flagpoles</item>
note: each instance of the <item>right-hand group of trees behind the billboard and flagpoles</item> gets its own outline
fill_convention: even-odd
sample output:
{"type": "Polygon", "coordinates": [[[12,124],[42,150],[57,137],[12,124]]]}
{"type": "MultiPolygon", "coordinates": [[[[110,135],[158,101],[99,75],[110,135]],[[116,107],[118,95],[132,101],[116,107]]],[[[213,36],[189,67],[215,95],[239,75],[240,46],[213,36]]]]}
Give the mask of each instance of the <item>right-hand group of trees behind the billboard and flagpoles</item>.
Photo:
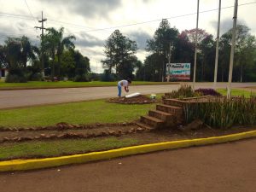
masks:
{"type": "MultiPolygon", "coordinates": [[[[256,40],[249,31],[247,26],[238,25],[236,28],[234,81],[256,81],[256,40]]],[[[177,28],[170,27],[168,20],[162,20],[154,37],[147,40],[146,50],[149,55],[142,62],[135,55],[137,43],[115,30],[105,44],[106,58],[102,60],[106,79],[163,81],[169,55],[171,62],[191,63],[190,79],[193,79],[195,32],[195,29],[179,32],[177,28]]],[[[220,38],[218,81],[228,80],[231,38],[231,29],[220,38]]],[[[212,34],[198,29],[197,42],[196,81],[213,81],[216,41],[212,34]]]]}

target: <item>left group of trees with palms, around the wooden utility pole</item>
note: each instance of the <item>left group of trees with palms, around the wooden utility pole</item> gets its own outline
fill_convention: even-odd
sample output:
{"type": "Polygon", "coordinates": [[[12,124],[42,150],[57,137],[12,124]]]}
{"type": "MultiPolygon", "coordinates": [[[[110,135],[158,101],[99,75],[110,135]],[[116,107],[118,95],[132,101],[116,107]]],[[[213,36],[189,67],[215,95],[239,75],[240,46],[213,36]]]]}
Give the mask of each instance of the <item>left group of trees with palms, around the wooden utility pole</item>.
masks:
{"type": "Polygon", "coordinates": [[[64,28],[46,29],[41,45],[32,45],[29,38],[7,38],[0,44],[0,68],[8,69],[6,82],[27,80],[88,81],[90,59],[75,49],[74,36],[64,37],[64,28]],[[42,61],[43,60],[43,61],[42,61]]]}

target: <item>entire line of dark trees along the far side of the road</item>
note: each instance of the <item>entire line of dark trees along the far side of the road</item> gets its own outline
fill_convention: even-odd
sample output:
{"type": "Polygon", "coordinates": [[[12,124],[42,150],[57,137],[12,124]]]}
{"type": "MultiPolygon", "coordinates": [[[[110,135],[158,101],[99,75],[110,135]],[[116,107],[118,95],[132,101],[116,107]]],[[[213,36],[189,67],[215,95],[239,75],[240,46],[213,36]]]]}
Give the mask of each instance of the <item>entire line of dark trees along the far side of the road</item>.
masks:
{"type": "MultiPolygon", "coordinates": [[[[168,20],[161,20],[154,36],[147,40],[148,56],[137,59],[137,42],[115,30],[104,45],[102,67],[104,73],[90,73],[90,59],[75,49],[75,37],[64,37],[64,28],[48,28],[40,46],[32,45],[29,38],[7,38],[0,44],[0,68],[9,70],[7,82],[27,80],[73,79],[89,81],[100,79],[136,79],[145,81],[166,80],[166,63],[191,63],[193,79],[195,54],[195,29],[179,32],[170,27],[168,20]]],[[[220,37],[218,81],[227,81],[230,64],[232,31],[220,37]]],[[[216,41],[212,34],[198,29],[196,81],[213,81],[216,41]]],[[[256,81],[256,39],[247,26],[236,28],[236,49],[233,69],[234,81],[256,81]]]]}

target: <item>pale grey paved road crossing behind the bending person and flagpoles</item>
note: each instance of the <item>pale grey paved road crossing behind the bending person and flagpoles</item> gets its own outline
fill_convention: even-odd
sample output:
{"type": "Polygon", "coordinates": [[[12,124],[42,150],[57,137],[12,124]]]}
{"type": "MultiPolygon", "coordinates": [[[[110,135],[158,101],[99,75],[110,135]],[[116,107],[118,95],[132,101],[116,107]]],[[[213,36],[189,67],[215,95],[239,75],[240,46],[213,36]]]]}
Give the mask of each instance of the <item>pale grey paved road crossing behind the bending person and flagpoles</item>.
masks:
{"type": "MultiPolygon", "coordinates": [[[[177,89],[179,84],[131,86],[130,92],[142,94],[164,93],[177,89]]],[[[256,86],[256,83],[233,84],[233,87],[256,86]]],[[[211,88],[212,83],[197,83],[196,88],[211,88]]],[[[226,84],[219,83],[218,88],[226,84]]],[[[20,108],[61,102],[79,102],[117,96],[116,87],[64,88],[42,90],[0,90],[0,109],[20,108]]]]}

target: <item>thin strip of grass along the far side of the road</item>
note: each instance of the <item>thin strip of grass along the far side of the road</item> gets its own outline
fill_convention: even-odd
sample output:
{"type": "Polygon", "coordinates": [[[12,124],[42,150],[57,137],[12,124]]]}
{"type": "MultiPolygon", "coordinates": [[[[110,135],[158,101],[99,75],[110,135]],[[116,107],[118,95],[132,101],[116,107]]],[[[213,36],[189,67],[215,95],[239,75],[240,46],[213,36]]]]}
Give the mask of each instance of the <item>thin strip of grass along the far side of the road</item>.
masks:
{"type": "MultiPolygon", "coordinates": [[[[148,81],[133,81],[132,85],[146,84],[177,84],[173,82],[148,82],[148,81]]],[[[67,87],[95,87],[95,86],[116,86],[117,82],[73,82],[73,81],[30,81],[27,83],[5,83],[0,81],[0,90],[19,90],[19,89],[44,89],[44,88],[67,88],[67,87]]]]}

